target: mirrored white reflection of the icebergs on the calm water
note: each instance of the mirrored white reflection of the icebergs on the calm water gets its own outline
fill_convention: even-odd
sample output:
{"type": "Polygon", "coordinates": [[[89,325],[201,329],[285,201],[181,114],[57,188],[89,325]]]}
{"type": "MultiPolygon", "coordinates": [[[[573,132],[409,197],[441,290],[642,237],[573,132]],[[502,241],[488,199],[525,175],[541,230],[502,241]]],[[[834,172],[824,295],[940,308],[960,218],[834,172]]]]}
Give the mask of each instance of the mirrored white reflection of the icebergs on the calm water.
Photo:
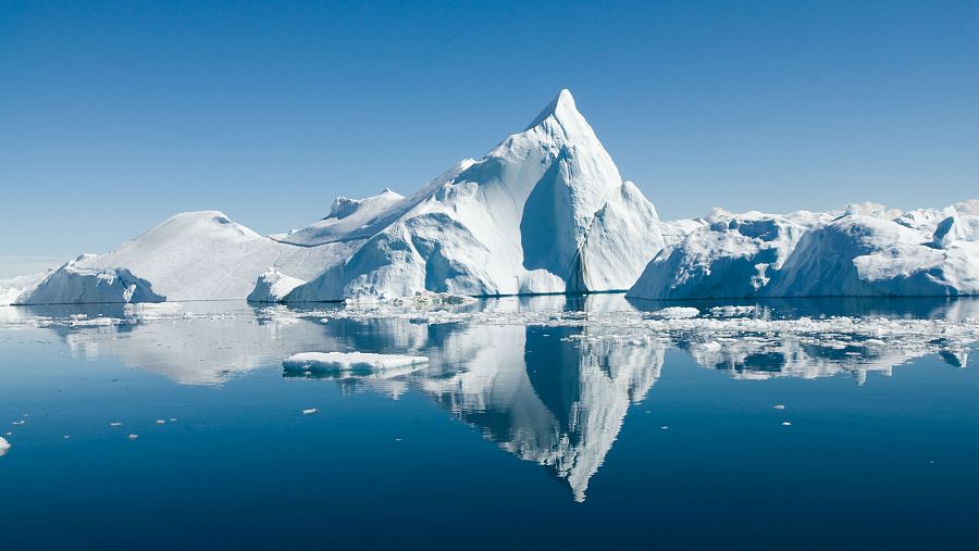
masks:
{"type": "Polygon", "coordinates": [[[925,354],[964,367],[979,339],[979,301],[771,301],[716,315],[716,304],[686,303],[703,314],[665,320],[650,313],[665,305],[598,295],[424,312],[237,303],[7,308],[0,327],[46,327],[73,354],[116,358],[185,385],[222,384],[297,352],[425,355],[430,363],[422,368],[284,376],[325,378],[350,392],[395,399],[417,388],[500,448],[546,466],[578,501],[630,404],[659,377],[669,348],[738,378],[846,372],[863,384],[868,372],[890,374],[925,354]]]}

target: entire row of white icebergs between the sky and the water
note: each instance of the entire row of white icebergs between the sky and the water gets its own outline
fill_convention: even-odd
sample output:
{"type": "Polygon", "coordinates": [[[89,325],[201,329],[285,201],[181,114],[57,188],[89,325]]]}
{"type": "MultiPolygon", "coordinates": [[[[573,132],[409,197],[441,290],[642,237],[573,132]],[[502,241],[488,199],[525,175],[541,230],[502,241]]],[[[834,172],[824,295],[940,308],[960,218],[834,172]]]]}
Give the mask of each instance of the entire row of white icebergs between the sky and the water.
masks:
{"type": "Polygon", "coordinates": [[[525,130],[413,195],[338,198],[272,236],[218,211],[177,214],[113,252],[0,280],[0,304],[979,295],[977,238],[979,201],[661,222],[562,90],[525,130]]]}

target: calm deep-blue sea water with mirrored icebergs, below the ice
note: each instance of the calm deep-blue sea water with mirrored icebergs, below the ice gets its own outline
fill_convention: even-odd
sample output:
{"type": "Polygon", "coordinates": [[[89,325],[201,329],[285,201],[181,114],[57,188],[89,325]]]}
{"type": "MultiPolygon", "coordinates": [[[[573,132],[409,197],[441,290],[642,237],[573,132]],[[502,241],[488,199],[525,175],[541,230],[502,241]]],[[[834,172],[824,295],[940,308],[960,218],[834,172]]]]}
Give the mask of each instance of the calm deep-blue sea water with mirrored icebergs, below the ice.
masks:
{"type": "Polygon", "coordinates": [[[0,549],[979,549],[977,339],[975,300],[0,308],[0,549]],[[429,361],[283,368],[336,351],[429,361]]]}

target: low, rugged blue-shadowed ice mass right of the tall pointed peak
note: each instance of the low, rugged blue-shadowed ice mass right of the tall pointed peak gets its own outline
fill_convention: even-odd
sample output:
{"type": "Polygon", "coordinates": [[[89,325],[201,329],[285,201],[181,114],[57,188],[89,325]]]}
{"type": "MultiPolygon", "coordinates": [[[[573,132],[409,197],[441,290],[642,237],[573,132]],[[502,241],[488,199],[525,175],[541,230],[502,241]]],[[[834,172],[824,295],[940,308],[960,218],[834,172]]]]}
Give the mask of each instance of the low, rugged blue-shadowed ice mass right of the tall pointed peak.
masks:
{"type": "Polygon", "coordinates": [[[979,295],[979,201],[900,212],[715,211],[660,251],[628,296],[645,299],[979,295]]]}

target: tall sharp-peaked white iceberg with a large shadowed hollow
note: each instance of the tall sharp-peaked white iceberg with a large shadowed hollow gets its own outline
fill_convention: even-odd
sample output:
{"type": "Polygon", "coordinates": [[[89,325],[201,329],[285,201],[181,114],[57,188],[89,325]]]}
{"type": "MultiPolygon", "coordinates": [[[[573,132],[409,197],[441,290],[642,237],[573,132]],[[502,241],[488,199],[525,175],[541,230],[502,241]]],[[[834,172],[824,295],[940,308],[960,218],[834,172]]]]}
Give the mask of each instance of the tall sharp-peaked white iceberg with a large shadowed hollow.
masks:
{"type": "Polygon", "coordinates": [[[622,181],[568,90],[485,158],[409,198],[351,209],[369,209],[379,231],[287,301],[625,289],[662,248],[656,210],[622,181]]]}

